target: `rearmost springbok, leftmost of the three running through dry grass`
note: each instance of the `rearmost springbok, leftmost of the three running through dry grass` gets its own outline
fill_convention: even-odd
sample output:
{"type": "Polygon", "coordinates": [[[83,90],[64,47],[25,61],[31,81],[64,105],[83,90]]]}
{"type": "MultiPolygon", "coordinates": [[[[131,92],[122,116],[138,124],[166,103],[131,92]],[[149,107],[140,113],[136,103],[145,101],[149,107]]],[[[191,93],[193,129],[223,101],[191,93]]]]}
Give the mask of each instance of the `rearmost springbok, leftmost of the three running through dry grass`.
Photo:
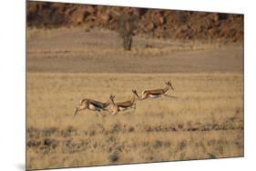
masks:
{"type": "Polygon", "coordinates": [[[99,116],[101,116],[100,111],[108,110],[108,109],[106,109],[106,107],[109,105],[110,105],[109,102],[102,103],[102,102],[97,102],[95,100],[84,98],[84,99],[80,100],[80,104],[75,109],[75,114],[73,117],[75,117],[78,112],[80,112],[81,110],[85,110],[85,109],[97,111],[99,116]]]}

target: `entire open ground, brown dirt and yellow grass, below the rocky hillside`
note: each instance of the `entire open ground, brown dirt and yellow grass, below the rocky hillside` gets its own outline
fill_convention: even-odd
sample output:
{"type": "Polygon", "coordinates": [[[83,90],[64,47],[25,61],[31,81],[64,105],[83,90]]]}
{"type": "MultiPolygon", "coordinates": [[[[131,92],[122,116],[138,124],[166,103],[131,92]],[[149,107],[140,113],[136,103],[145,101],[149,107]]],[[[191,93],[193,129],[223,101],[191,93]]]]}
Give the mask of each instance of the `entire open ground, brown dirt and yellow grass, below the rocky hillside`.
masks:
{"type": "Polygon", "coordinates": [[[26,168],[97,166],[243,156],[242,45],[135,37],[82,28],[27,30],[26,168]],[[83,111],[165,87],[172,96],[118,113],[83,111]]]}

